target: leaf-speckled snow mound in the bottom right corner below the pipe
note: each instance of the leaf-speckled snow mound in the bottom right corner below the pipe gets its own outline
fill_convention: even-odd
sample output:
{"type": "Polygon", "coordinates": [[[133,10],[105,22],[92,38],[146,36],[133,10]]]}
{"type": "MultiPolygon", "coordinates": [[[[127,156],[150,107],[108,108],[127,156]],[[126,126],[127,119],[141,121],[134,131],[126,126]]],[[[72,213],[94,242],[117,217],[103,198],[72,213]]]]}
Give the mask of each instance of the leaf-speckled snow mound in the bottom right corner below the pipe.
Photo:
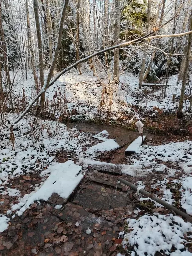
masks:
{"type": "Polygon", "coordinates": [[[129,243],[134,246],[138,256],[154,256],[156,252],[161,250],[166,255],[172,255],[171,248],[173,245],[177,249],[178,255],[182,255],[179,250],[185,247],[183,245],[186,242],[184,234],[192,231],[191,223],[186,223],[180,217],[172,214],[168,216],[143,215],[138,220],[127,219],[127,223],[130,233],[124,235],[123,245],[129,243]],[[135,246],[136,244],[137,246],[135,246]]]}

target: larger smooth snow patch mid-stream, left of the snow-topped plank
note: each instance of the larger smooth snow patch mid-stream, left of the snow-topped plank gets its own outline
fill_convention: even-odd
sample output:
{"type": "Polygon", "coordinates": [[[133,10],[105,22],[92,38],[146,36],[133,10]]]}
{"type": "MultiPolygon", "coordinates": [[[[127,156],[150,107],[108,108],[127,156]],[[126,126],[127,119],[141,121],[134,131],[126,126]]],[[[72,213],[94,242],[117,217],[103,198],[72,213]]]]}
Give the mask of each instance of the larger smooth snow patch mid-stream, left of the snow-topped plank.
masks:
{"type": "Polygon", "coordinates": [[[87,155],[92,154],[94,151],[104,152],[116,149],[118,147],[119,145],[117,144],[117,142],[114,139],[110,139],[90,147],[87,150],[87,155]]]}

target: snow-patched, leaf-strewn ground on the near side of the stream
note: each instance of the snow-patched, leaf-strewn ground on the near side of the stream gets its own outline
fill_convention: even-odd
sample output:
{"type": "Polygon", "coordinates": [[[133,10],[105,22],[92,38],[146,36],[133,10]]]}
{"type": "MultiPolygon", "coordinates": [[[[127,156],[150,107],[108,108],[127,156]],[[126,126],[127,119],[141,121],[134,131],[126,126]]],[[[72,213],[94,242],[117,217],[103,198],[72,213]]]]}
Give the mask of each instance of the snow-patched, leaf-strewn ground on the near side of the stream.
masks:
{"type": "Polygon", "coordinates": [[[126,157],[127,145],[115,148],[138,133],[108,126],[109,134],[97,135],[107,127],[69,126],[75,125],[79,130],[29,116],[12,143],[2,140],[0,254],[190,255],[191,223],[123,184],[115,187],[122,177],[192,214],[191,141],[147,134],[137,154],[126,157]],[[78,181],[69,178],[68,186],[58,182],[69,161],[79,175],[70,170],[78,181]],[[54,173],[57,164],[61,169],[54,173]],[[70,186],[77,187],[66,204],[62,195],[70,186]]]}

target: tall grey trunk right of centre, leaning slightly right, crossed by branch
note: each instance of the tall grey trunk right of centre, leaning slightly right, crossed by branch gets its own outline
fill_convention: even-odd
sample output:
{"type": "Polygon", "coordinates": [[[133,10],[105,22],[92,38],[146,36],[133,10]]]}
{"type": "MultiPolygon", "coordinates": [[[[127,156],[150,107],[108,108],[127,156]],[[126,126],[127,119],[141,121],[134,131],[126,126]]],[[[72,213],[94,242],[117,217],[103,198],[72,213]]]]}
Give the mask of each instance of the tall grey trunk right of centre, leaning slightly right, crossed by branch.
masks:
{"type": "MultiPolygon", "coordinates": [[[[148,3],[147,3],[147,25],[146,25],[147,32],[149,31],[150,19],[151,19],[151,0],[148,0],[148,3]]],[[[146,41],[144,41],[144,42],[146,42],[146,41]]],[[[147,55],[147,46],[144,45],[143,46],[143,61],[142,61],[141,71],[140,71],[140,76],[139,76],[139,88],[140,89],[141,89],[141,86],[143,83],[143,76],[145,73],[146,55],[147,55]]]]}

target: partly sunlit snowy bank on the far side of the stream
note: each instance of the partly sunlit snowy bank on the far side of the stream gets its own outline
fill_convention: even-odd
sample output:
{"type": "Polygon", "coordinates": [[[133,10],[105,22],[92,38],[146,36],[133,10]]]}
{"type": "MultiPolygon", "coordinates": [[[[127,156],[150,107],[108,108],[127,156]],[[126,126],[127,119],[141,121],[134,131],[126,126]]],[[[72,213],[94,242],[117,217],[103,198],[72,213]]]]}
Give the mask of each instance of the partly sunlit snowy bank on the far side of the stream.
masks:
{"type": "MultiPolygon", "coordinates": [[[[46,76],[46,72],[45,72],[46,76]]],[[[101,82],[107,85],[105,74],[101,76],[101,82]]],[[[166,98],[162,98],[162,89],[153,89],[143,86],[138,88],[138,77],[132,73],[124,72],[120,75],[120,85],[114,89],[111,104],[111,117],[116,119],[131,111],[133,105],[141,106],[144,111],[155,110],[175,111],[178,106],[181,83],[177,84],[177,75],[169,78],[166,89],[166,98]],[[148,93],[146,93],[146,91],[148,93]],[[173,102],[173,95],[176,95],[173,102]]],[[[27,80],[19,72],[15,78],[13,93],[23,97],[23,88],[26,102],[30,102],[36,95],[33,86],[33,74],[28,72],[27,80]]],[[[56,118],[61,115],[73,116],[77,119],[94,119],[98,115],[98,106],[101,103],[103,86],[98,83],[98,78],[92,76],[91,71],[85,71],[79,75],[77,71],[64,74],[46,91],[46,111],[56,118]]],[[[188,88],[186,88],[186,93],[188,88]]],[[[189,100],[184,102],[184,109],[189,106],[189,100]]],[[[100,117],[105,117],[108,106],[103,105],[100,117]]]]}

